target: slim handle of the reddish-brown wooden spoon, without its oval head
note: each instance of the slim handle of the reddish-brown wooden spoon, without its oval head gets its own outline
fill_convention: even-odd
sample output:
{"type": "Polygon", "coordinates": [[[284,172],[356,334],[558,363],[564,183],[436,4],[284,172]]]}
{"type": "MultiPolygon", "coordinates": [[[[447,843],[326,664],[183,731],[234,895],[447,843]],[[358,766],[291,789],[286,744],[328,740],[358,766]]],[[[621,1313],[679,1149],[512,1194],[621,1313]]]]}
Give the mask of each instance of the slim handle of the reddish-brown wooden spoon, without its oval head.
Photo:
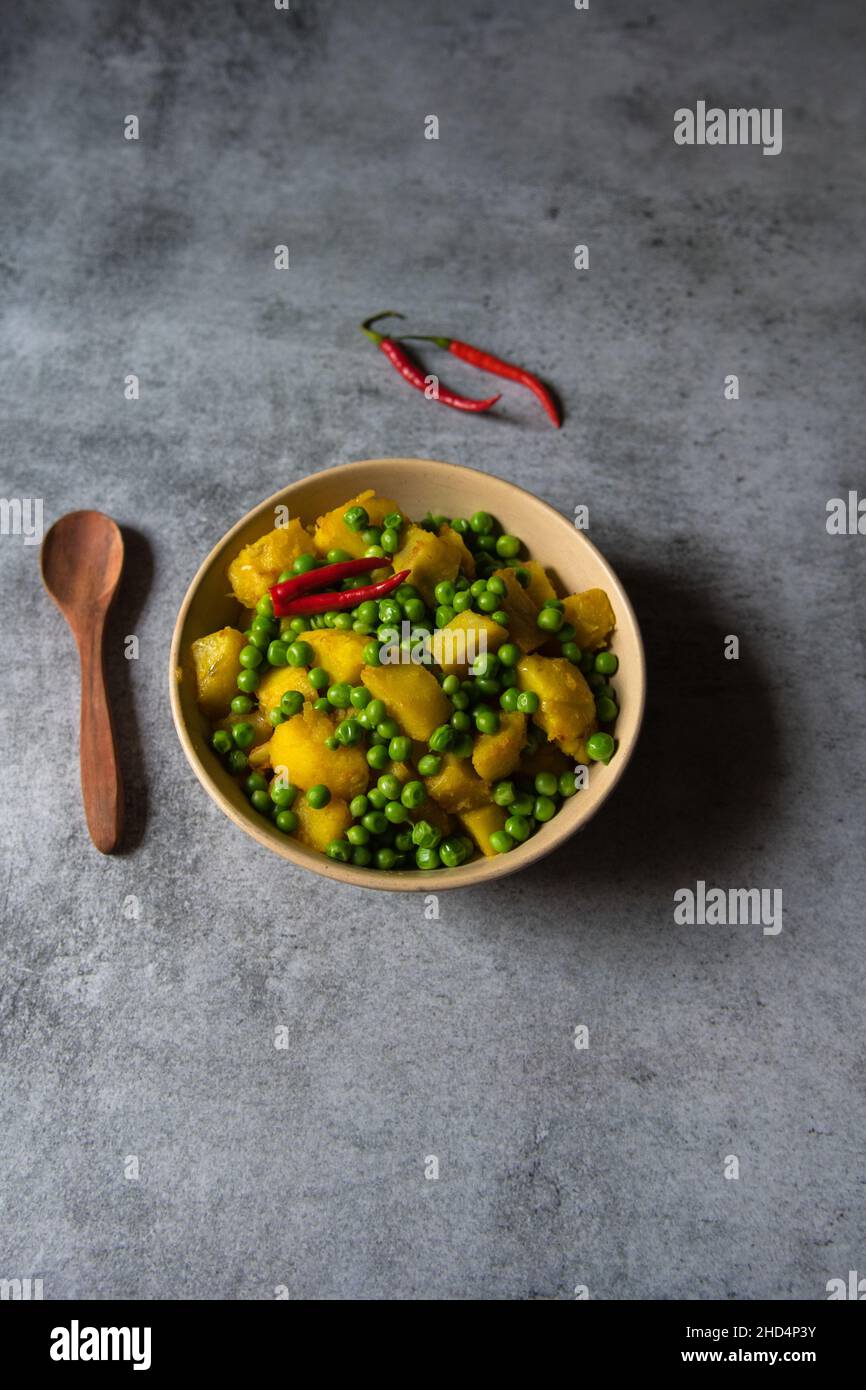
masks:
{"type": "Polygon", "coordinates": [[[101,621],[82,631],[81,657],[81,791],[90,840],[110,855],[124,828],[124,787],[117,758],[111,706],[106,691],[101,621]]]}

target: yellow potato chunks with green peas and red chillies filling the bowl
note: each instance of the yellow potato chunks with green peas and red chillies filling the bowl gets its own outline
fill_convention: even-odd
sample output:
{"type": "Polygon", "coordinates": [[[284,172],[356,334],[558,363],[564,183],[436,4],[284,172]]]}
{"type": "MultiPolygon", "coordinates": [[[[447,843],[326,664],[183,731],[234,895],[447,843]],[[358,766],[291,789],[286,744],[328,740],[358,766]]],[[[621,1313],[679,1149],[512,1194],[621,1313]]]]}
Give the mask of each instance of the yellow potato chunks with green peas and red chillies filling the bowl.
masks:
{"type": "Polygon", "coordinates": [[[246,545],[192,642],[210,742],[275,831],[371,870],[517,849],[616,752],[603,589],[559,596],[487,512],[363,491],[246,545]]]}

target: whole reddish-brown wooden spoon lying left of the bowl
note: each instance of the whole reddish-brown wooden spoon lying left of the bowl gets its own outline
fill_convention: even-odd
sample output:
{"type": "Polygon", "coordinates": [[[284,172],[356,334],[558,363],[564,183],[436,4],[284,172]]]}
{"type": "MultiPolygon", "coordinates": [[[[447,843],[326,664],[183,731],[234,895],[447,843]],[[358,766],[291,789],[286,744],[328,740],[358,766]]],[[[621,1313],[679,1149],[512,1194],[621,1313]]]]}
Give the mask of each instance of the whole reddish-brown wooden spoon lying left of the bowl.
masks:
{"type": "Polygon", "coordinates": [[[81,790],[88,830],[110,855],[124,828],[124,788],[103,667],[106,617],[124,567],[120,527],[101,512],[70,512],[42,542],[42,578],[72,628],[81,660],[81,790]]]}

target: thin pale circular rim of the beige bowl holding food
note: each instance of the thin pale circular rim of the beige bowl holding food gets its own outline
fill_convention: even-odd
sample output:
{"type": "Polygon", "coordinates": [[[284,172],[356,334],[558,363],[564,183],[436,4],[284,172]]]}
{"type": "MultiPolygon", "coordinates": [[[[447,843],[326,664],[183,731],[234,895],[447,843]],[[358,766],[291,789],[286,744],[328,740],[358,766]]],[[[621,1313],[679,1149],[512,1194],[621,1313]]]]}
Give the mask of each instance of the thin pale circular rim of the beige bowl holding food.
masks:
{"type": "MultiPolygon", "coordinates": [[[[348,496],[352,495],[353,491],[348,493],[348,496]]],[[[619,613],[617,613],[617,626],[620,626],[619,613]]],[[[239,826],[240,830],[246,831],[247,835],[252,835],[252,838],[256,840],[260,845],[270,849],[281,859],[289,860],[289,863],[295,865],[297,869],[306,869],[310,873],[317,873],[321,877],[332,878],[338,883],[349,883],[356,888],[367,888],[371,892],[427,891],[438,895],[439,892],[450,892],[457,888],[478,887],[481,884],[493,883],[499,878],[505,878],[509,874],[520,873],[521,869],[527,869],[531,863],[535,863],[537,860],[544,859],[546,855],[552,853],[555,849],[559,849],[559,847],[563,845],[566,840],[577,834],[578,830],[582,830],[584,826],[588,824],[595,815],[598,815],[601,808],[605,805],[610,794],[614,791],[614,788],[623,778],[626,769],[628,767],[628,763],[631,762],[631,758],[638,744],[638,738],[644,724],[644,712],[646,705],[646,657],[644,652],[644,638],[641,634],[641,627],[637,614],[634,612],[634,607],[631,605],[631,600],[626,594],[621,580],[616,574],[613,566],[605,559],[602,552],[598,549],[598,546],[589,539],[589,537],[584,531],[577,530],[563,516],[562,512],[557,512],[556,507],[553,507],[549,502],[545,502],[545,499],[539,498],[537,493],[530,492],[527,488],[521,488],[520,484],[512,482],[509,478],[500,478],[498,474],[491,474],[482,468],[468,468],[464,464],[446,463],[438,459],[402,459],[398,456],[391,456],[381,459],[361,459],[352,463],[335,464],[331,468],[320,468],[317,473],[307,473],[304,474],[303,478],[297,478],[296,481],[289,482],[282,488],[278,488],[277,492],[271,493],[271,496],[264,498],[256,506],[250,507],[249,512],[245,513],[245,516],[242,516],[232,527],[229,527],[229,530],[217,541],[214,546],[211,546],[207,556],[202,560],[192,580],[189,581],[189,585],[183,595],[183,600],[181,603],[178,616],[175,619],[174,631],[171,634],[171,648],[168,660],[168,688],[170,688],[171,716],[174,720],[174,727],[178,739],[181,742],[181,748],[183,749],[183,753],[186,756],[186,760],[192,767],[193,773],[196,774],[199,783],[202,784],[204,791],[210,795],[210,798],[215,801],[220,810],[225,816],[228,816],[231,821],[239,826]],[[272,510],[274,507],[285,503],[285,500],[291,496],[292,492],[299,491],[300,488],[307,485],[311,480],[324,478],[325,475],[334,478],[346,478],[346,480],[357,478],[359,475],[363,475],[364,470],[370,470],[371,467],[384,463],[400,463],[407,466],[418,464],[421,467],[428,467],[430,464],[434,464],[438,470],[445,468],[448,471],[459,474],[473,474],[473,477],[481,480],[495,478],[496,482],[503,484],[505,486],[513,489],[514,492],[523,493],[527,498],[531,498],[535,506],[541,506],[545,512],[549,513],[550,523],[553,525],[556,525],[557,528],[566,528],[571,541],[577,541],[578,545],[589,548],[591,553],[595,556],[602,571],[613,581],[617,595],[621,594],[621,600],[619,600],[619,609],[620,613],[624,610],[624,613],[627,614],[637,641],[638,669],[637,671],[632,673],[637,680],[637,701],[632,702],[635,705],[634,734],[626,748],[623,746],[617,748],[616,759],[613,760],[612,764],[607,764],[610,777],[603,788],[602,795],[598,798],[596,803],[585,813],[585,816],[575,826],[564,828],[560,834],[556,834],[556,824],[555,824],[556,817],[555,817],[552,821],[548,821],[541,834],[532,835],[531,840],[527,840],[523,845],[517,845],[514,849],[509,851],[507,855],[496,855],[495,858],[491,859],[487,858],[473,859],[466,865],[460,865],[457,869],[449,869],[446,874],[430,873],[424,872],[423,869],[398,869],[391,873],[382,873],[381,870],[364,869],[360,867],[359,865],[343,865],[338,860],[328,859],[325,855],[316,856],[317,859],[321,860],[321,866],[318,863],[316,865],[310,863],[306,853],[302,853],[299,848],[296,848],[295,841],[289,835],[284,837],[282,841],[275,841],[272,833],[265,831],[264,826],[261,827],[257,826],[256,821],[252,819],[252,815],[250,816],[242,815],[232,805],[232,802],[217,785],[215,780],[211,777],[210,771],[199,758],[193,746],[189,730],[186,727],[186,721],[183,719],[183,710],[181,706],[181,682],[178,680],[178,671],[182,669],[183,664],[183,653],[181,652],[181,635],[183,631],[183,626],[186,623],[186,616],[189,613],[193,598],[199,588],[199,584],[202,582],[204,574],[210,570],[217,556],[225,549],[228,549],[232,539],[245,530],[245,527],[253,520],[253,517],[256,517],[259,513],[267,513],[268,510],[272,510]],[[552,830],[553,834],[545,835],[545,831],[548,830],[552,830]]]]}

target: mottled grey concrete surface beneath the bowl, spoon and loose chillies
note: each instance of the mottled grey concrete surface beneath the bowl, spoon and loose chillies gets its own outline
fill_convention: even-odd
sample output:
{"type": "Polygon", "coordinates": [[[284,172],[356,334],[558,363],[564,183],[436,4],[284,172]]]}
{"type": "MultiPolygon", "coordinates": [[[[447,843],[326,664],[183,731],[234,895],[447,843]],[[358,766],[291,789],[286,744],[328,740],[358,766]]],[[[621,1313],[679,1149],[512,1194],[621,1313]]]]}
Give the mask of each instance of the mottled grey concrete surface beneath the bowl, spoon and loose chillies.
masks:
{"type": "Polygon", "coordinates": [[[3,10],[1,491],[128,528],[131,835],[89,845],[71,639],[1,537],[0,1276],[784,1300],[863,1272],[866,541],[824,525],[865,484],[862,6],[3,10]],[[783,107],[781,156],[677,147],[698,99],[783,107]],[[513,389],[425,404],[357,334],[388,307],[548,374],[562,432],[513,389]],[[648,644],[616,798],[439,922],[257,848],[165,696],[227,527],[377,455],[587,503],[648,644]],[[781,888],[784,930],[674,926],[698,878],[781,888]]]}

